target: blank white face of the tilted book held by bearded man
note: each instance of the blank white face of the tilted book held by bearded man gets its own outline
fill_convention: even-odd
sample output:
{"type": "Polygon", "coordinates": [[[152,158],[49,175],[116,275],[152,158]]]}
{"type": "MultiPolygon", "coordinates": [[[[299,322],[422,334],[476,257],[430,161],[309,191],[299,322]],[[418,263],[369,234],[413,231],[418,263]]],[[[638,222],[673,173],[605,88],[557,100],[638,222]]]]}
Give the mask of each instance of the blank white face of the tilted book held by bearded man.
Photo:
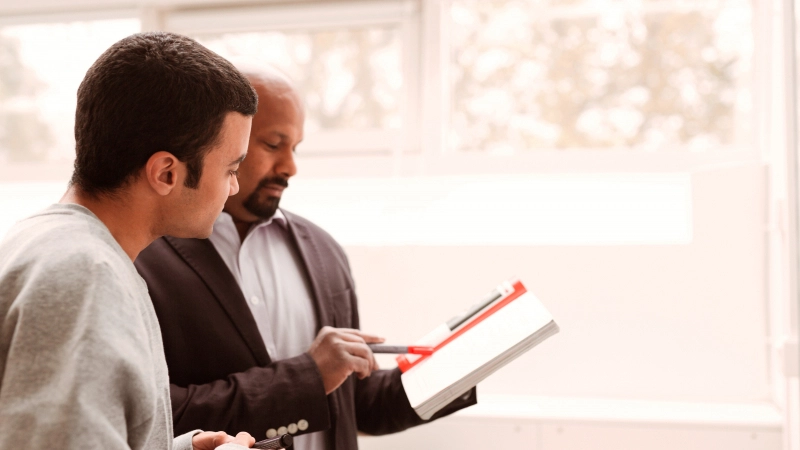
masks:
{"type": "Polygon", "coordinates": [[[512,300],[403,374],[403,387],[411,406],[416,408],[552,320],[533,294],[526,292],[512,300]]]}

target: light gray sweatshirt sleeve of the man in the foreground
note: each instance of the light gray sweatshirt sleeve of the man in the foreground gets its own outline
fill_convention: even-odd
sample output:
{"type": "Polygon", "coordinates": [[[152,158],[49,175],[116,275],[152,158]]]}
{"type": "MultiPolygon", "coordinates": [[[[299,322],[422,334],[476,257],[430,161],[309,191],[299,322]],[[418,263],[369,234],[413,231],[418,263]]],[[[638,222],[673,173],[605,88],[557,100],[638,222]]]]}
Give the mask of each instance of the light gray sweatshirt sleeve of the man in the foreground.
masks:
{"type": "Polygon", "coordinates": [[[19,292],[0,305],[0,448],[127,450],[151,440],[151,349],[141,344],[141,306],[111,267],[50,260],[0,277],[3,288],[19,292]]]}

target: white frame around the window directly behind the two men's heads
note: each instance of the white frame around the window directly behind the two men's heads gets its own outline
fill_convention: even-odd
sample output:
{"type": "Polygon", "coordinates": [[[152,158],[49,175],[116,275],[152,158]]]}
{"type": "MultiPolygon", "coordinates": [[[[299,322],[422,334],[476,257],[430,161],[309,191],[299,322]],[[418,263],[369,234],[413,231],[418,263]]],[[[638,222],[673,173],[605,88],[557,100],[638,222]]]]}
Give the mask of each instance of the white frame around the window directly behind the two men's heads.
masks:
{"type": "Polygon", "coordinates": [[[168,12],[163,27],[187,35],[225,32],[325,30],[389,25],[401,34],[403,88],[402,128],[398,130],[319,130],[306,135],[305,157],[396,157],[419,150],[418,8],[409,0],[369,0],[262,5],[168,12]]]}

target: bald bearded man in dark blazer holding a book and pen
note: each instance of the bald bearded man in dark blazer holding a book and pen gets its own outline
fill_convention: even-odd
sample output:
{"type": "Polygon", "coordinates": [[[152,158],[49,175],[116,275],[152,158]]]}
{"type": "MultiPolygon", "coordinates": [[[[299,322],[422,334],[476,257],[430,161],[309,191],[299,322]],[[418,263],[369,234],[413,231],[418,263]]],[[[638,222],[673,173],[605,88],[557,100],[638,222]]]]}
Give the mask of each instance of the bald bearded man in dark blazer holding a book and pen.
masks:
{"type": "MultiPolygon", "coordinates": [[[[249,72],[259,108],[239,194],[211,239],[165,237],[136,261],[162,324],[175,432],[288,432],[298,450],[350,450],[357,432],[422,424],[400,371],[376,370],[367,343],[381,340],[358,330],[342,248],[278,209],[303,109],[280,74],[249,72]]],[[[473,388],[434,419],[475,403],[473,388]]]]}

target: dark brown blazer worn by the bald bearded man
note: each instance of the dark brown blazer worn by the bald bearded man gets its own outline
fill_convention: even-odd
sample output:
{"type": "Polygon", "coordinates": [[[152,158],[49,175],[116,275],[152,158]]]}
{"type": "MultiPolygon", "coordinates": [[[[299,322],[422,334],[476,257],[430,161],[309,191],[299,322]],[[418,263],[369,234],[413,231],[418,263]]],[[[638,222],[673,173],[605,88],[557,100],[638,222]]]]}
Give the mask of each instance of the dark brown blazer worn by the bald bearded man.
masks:
{"type": "MultiPolygon", "coordinates": [[[[302,217],[284,211],[305,262],[317,324],[359,328],[353,279],[343,249],[302,217]]],[[[400,371],[349,377],[325,395],[308,354],[272,361],[244,295],[209,240],[164,237],[136,268],[161,323],[169,367],[175,434],[193,429],[247,431],[301,424],[297,435],[332,430],[331,448],[358,448],[357,431],[393,433],[424,423],[409,405],[400,371]]],[[[435,418],[476,403],[475,389],[435,418]]]]}

